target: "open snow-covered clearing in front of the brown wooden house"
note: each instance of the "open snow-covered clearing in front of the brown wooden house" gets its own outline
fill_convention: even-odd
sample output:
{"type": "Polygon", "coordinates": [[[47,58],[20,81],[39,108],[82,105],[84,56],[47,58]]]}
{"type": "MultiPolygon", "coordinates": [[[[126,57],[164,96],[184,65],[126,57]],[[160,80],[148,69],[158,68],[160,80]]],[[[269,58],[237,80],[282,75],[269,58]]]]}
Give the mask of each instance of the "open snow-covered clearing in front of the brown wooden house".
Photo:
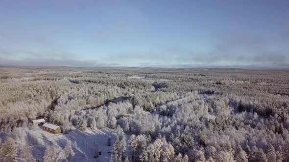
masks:
{"type": "MultiPolygon", "coordinates": [[[[37,150],[42,150],[42,155],[35,155],[36,157],[42,157],[44,155],[45,148],[49,145],[59,145],[64,148],[67,142],[74,141],[77,147],[73,148],[75,156],[72,157],[72,162],[109,162],[110,154],[115,141],[115,130],[110,128],[103,128],[99,130],[88,129],[86,131],[80,131],[73,129],[68,134],[51,134],[42,130],[42,126],[35,127],[33,130],[28,131],[31,135],[38,138],[38,144],[36,144],[37,150]],[[107,139],[111,137],[111,146],[107,146],[107,139]],[[101,155],[98,155],[98,151],[101,151],[101,155]]],[[[35,143],[31,143],[35,145],[35,143]]]]}

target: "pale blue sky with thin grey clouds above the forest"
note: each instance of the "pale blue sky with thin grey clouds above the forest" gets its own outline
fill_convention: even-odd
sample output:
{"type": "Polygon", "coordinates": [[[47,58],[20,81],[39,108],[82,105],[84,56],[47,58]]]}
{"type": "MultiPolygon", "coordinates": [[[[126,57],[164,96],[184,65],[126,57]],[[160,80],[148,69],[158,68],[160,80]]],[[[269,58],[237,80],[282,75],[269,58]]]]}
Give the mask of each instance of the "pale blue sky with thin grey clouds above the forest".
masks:
{"type": "Polygon", "coordinates": [[[288,0],[0,0],[0,65],[289,68],[288,0]]]}

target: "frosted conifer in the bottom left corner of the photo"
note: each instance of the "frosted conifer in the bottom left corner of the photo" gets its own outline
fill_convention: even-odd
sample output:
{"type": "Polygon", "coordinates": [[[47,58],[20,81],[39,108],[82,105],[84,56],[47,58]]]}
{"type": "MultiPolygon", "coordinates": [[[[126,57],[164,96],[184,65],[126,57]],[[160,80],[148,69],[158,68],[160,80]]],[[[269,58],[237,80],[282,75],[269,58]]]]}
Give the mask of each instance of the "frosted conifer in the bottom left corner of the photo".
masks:
{"type": "Polygon", "coordinates": [[[18,162],[17,145],[12,138],[8,138],[0,148],[0,160],[3,162],[18,162]]]}

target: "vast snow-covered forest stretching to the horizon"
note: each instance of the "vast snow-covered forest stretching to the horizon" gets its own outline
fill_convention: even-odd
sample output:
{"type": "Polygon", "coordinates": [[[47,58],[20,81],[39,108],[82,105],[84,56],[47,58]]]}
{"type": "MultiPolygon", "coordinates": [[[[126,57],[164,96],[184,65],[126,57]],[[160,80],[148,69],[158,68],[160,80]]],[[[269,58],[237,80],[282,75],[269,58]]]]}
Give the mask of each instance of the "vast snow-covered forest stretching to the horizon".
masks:
{"type": "Polygon", "coordinates": [[[0,162],[33,161],[287,162],[289,71],[1,67],[0,162]]]}

